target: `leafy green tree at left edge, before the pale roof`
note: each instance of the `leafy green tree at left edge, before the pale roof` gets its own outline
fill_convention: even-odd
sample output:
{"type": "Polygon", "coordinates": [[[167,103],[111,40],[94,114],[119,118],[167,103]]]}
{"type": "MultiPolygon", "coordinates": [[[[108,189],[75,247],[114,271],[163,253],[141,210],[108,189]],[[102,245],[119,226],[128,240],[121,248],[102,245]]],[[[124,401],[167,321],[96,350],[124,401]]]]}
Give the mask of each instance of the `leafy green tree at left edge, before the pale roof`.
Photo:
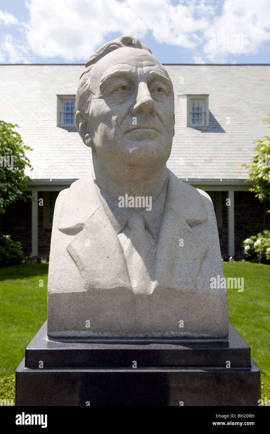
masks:
{"type": "Polygon", "coordinates": [[[33,196],[22,191],[32,182],[24,174],[27,166],[33,169],[25,155],[25,151],[32,149],[23,144],[20,134],[13,129],[17,126],[0,121],[0,214],[18,199],[33,200],[33,196]]]}

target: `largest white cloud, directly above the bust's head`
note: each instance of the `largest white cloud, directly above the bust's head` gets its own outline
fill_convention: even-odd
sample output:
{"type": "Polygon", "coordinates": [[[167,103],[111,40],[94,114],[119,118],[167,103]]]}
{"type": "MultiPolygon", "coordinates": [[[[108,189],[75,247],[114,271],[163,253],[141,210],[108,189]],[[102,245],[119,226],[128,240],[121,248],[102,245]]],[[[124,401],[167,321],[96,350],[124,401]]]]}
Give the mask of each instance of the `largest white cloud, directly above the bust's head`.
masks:
{"type": "Polygon", "coordinates": [[[67,60],[86,59],[112,32],[142,38],[148,31],[159,43],[193,49],[197,32],[207,28],[213,8],[201,1],[200,17],[193,12],[196,0],[173,6],[169,0],[28,0],[30,20],[27,40],[34,53],[67,60]]]}

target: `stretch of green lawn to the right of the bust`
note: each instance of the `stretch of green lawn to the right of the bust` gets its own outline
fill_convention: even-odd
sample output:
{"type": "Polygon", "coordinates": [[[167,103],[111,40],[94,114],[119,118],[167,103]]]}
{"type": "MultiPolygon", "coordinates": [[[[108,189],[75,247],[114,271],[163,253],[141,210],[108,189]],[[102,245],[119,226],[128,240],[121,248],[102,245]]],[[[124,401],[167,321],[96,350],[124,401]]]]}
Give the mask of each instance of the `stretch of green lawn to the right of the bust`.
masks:
{"type": "Polygon", "coordinates": [[[261,370],[261,396],[270,398],[270,266],[223,263],[224,276],[244,277],[244,291],[228,289],[229,321],[250,346],[261,370]]]}

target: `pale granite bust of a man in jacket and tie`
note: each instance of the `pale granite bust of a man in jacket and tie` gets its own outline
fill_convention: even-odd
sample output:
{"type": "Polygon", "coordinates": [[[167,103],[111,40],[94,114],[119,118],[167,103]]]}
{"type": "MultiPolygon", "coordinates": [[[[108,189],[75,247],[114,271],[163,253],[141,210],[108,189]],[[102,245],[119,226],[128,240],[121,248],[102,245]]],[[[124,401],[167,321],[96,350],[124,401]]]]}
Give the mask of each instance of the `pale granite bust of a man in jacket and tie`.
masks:
{"type": "Polygon", "coordinates": [[[134,36],[86,62],[75,124],[94,171],[55,204],[49,336],[228,337],[213,204],[166,168],[174,123],[171,79],[134,36]]]}

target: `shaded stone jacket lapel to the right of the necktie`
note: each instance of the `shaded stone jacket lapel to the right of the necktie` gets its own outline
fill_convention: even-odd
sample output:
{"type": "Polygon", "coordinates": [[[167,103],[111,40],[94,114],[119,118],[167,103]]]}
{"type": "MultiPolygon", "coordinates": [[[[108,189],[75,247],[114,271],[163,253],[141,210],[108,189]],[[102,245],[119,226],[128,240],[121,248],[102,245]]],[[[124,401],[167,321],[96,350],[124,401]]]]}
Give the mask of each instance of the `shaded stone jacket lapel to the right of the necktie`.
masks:
{"type": "Polygon", "coordinates": [[[201,194],[168,170],[169,183],[157,240],[154,280],[171,289],[196,289],[208,248],[192,230],[207,220],[201,194]]]}

